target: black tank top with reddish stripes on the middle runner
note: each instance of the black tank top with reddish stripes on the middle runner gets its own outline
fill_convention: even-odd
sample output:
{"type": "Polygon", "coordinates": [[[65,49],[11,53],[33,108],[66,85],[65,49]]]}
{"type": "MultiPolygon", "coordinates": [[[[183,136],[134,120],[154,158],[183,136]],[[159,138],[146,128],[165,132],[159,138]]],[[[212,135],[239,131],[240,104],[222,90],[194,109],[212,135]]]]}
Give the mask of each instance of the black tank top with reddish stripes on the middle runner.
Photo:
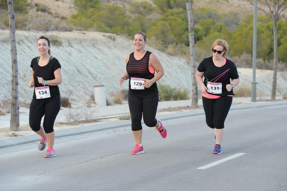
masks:
{"type": "Polygon", "coordinates": [[[154,77],[154,73],[151,73],[148,69],[150,54],[151,52],[146,51],[146,54],[140,60],[135,59],[134,52],[129,55],[129,61],[127,62],[127,73],[129,74],[129,89],[133,92],[142,92],[144,90],[157,88],[156,82],[154,82],[149,88],[145,88],[144,90],[131,89],[131,78],[144,78],[150,80],[154,77]]]}

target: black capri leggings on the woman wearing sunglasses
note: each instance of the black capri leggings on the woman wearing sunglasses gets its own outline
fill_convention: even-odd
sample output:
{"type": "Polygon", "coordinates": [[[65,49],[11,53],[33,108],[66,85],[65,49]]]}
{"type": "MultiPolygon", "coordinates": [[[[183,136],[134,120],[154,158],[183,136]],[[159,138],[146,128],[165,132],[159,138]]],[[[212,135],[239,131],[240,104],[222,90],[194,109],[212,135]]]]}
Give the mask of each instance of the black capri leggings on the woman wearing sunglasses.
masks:
{"type": "Polygon", "coordinates": [[[222,96],[218,99],[202,97],[202,103],[208,127],[223,129],[224,121],[232,103],[232,96],[222,96]]]}

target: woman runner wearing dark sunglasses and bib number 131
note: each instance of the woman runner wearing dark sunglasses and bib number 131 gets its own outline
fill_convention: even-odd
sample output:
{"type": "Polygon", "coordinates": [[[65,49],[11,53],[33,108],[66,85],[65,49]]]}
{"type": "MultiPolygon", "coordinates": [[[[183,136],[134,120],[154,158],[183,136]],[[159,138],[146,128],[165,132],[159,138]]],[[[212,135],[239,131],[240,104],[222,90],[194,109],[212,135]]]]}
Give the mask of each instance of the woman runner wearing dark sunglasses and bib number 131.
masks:
{"type": "Polygon", "coordinates": [[[225,58],[228,49],[225,40],[217,39],[212,44],[213,56],[203,59],[195,74],[196,82],[201,87],[206,124],[214,129],[216,143],[213,154],[222,153],[220,142],[224,121],[232,103],[232,89],[239,83],[236,65],[225,58]]]}

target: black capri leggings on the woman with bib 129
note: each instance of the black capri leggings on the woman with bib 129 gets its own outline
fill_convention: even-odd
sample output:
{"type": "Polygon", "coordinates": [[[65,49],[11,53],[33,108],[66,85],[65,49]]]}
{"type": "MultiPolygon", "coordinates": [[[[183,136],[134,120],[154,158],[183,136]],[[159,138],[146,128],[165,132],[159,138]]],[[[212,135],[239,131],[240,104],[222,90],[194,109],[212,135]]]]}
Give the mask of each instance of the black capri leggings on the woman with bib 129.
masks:
{"type": "Polygon", "coordinates": [[[139,93],[133,93],[129,90],[127,100],[129,103],[129,112],[131,113],[131,130],[139,131],[142,129],[142,116],[144,116],[146,126],[156,126],[156,110],[158,108],[157,88],[139,93]]]}

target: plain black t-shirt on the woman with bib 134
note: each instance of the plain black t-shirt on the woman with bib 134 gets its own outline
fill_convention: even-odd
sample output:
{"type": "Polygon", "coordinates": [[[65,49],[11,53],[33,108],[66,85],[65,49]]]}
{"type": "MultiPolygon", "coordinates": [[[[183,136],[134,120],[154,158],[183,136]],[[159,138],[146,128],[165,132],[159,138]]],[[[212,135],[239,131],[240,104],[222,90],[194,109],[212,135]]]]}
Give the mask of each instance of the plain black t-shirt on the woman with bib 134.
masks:
{"type": "MultiPolygon", "coordinates": [[[[43,78],[44,80],[54,80],[55,79],[55,75],[54,75],[55,70],[57,70],[58,68],[61,68],[59,61],[54,57],[50,58],[47,65],[39,66],[38,65],[39,58],[40,57],[33,58],[31,61],[31,65],[30,65],[30,67],[34,71],[33,77],[34,77],[34,82],[35,82],[36,88],[44,86],[43,84],[40,84],[38,82],[37,76],[43,78]]],[[[46,85],[46,86],[49,86],[51,97],[55,97],[55,96],[60,95],[60,90],[59,90],[58,86],[50,86],[50,85],[46,85]]],[[[35,89],[34,89],[33,98],[36,99],[35,89]]]]}

